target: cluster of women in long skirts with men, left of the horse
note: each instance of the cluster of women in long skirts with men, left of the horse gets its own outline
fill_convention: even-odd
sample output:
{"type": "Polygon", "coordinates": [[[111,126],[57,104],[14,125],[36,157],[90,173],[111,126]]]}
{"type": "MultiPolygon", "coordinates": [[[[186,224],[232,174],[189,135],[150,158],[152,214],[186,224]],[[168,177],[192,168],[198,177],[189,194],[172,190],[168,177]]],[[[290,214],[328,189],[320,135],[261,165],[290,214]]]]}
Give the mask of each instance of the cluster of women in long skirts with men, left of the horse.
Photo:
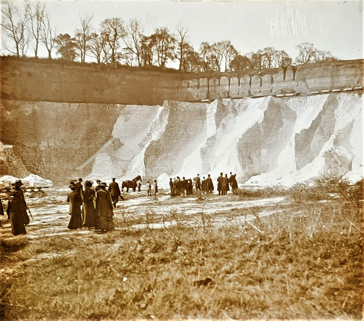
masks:
{"type": "Polygon", "coordinates": [[[113,178],[108,189],[107,184],[101,180],[97,180],[95,189],[92,186],[93,182],[86,180],[83,189],[82,178],[78,178],[76,183],[70,182],[68,187],[71,192],[67,195],[67,202],[70,203],[71,217],[67,227],[110,231],[114,228],[113,208],[121,197],[119,185],[113,178]]]}

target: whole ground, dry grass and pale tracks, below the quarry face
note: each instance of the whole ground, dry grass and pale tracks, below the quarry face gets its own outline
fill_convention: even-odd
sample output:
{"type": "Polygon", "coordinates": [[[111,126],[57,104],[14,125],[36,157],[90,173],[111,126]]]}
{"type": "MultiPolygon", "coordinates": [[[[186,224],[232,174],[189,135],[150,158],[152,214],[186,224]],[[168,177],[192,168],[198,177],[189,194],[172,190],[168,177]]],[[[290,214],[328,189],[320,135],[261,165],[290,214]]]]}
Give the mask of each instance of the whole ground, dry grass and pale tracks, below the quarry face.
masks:
{"type": "Polygon", "coordinates": [[[66,188],[26,199],[25,236],[2,216],[0,319],[361,318],[359,209],[168,192],[123,193],[109,233],[67,228],[66,188]]]}

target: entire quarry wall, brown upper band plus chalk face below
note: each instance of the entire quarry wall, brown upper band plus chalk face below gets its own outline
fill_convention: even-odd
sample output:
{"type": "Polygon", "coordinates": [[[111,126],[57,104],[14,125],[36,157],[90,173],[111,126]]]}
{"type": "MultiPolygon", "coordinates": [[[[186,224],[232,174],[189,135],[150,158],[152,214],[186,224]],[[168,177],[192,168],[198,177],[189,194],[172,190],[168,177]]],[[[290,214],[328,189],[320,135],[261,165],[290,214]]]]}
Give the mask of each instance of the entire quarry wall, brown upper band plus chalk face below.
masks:
{"type": "Polygon", "coordinates": [[[0,175],[60,185],[220,171],[259,184],[320,170],[360,176],[362,67],[178,74],[2,58],[0,175]],[[257,99],[234,99],[245,97],[257,99]]]}

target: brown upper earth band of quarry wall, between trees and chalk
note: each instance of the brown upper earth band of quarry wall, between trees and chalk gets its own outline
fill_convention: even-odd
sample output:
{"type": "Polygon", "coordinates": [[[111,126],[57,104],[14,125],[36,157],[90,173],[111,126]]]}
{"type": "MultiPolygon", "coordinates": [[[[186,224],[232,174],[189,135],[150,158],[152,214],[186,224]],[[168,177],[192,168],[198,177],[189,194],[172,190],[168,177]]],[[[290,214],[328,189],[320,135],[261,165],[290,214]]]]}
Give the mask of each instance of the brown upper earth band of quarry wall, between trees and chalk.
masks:
{"type": "Polygon", "coordinates": [[[3,57],[2,99],[60,103],[162,105],[362,87],[363,61],[268,70],[182,74],[3,57]]]}

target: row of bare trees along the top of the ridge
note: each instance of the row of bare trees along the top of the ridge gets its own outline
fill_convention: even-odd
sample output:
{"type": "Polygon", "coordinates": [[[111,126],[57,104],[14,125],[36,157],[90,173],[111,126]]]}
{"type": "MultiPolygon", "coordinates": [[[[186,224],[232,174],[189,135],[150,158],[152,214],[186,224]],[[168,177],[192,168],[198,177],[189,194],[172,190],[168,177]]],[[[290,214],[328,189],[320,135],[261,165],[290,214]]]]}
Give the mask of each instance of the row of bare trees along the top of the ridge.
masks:
{"type": "Polygon", "coordinates": [[[230,40],[201,42],[195,50],[188,35],[188,27],[178,23],[172,33],[159,27],[151,35],[144,33],[138,19],[125,23],[121,18],[108,18],[98,29],[92,27],[92,15],[80,17],[74,34],[57,34],[57,27],[44,4],[25,1],[23,8],[14,2],[3,6],[1,26],[8,42],[4,48],[11,55],[27,57],[30,49],[35,58],[39,47],[48,52],[48,58],[78,62],[119,63],[121,65],[165,69],[174,62],[180,72],[244,71],[270,69],[295,64],[337,60],[328,51],[320,51],[312,43],[298,44],[298,56],[293,60],[284,50],[266,47],[242,55],[230,40]],[[10,43],[9,43],[10,42],[10,43]]]}

